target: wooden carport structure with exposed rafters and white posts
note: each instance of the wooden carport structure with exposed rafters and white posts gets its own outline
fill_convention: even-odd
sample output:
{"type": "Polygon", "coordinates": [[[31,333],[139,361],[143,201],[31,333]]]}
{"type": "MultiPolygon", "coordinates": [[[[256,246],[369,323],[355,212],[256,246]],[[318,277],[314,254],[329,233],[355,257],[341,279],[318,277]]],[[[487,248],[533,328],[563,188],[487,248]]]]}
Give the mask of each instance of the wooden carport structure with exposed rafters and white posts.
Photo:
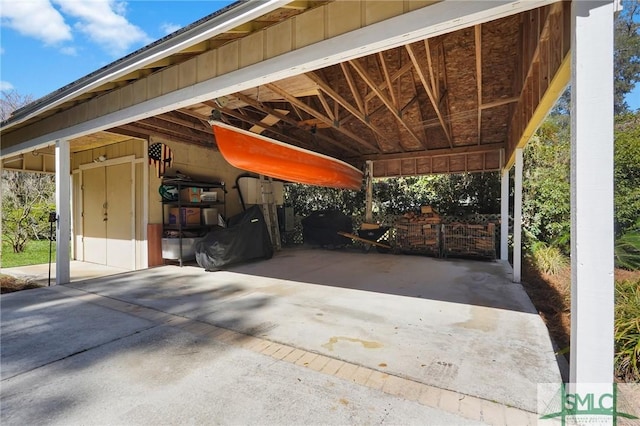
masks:
{"type": "MultiPolygon", "coordinates": [[[[178,162],[194,173],[215,169],[227,181],[240,173],[215,152],[211,110],[239,127],[275,118],[270,136],[360,167],[372,161],[378,177],[500,170],[504,227],[515,166],[517,282],[522,148],[571,80],[570,381],[608,384],[608,393],[613,11],[614,2],[550,0],[234,4],[16,111],[2,124],[3,167],[26,169],[30,152],[55,145],[61,254],[72,182],[82,187],[72,171],[127,170],[115,185],[130,188],[129,232],[107,230],[100,244],[129,241],[136,269],[148,265],[146,225],[160,216],[149,143],[181,147],[178,162]],[[90,165],[102,157],[108,164],[90,165]]],[[[69,281],[68,265],[60,255],[57,283],[69,281]]]]}

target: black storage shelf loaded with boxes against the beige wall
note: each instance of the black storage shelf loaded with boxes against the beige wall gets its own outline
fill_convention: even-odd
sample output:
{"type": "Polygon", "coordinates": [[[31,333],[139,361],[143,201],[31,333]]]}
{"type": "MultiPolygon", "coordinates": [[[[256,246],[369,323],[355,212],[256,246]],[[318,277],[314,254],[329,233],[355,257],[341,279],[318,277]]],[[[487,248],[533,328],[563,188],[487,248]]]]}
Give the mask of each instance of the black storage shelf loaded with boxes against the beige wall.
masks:
{"type": "Polygon", "coordinates": [[[195,258],[196,243],[218,224],[218,215],[226,215],[227,191],[223,182],[165,179],[162,186],[162,257],[182,266],[195,258]]]}

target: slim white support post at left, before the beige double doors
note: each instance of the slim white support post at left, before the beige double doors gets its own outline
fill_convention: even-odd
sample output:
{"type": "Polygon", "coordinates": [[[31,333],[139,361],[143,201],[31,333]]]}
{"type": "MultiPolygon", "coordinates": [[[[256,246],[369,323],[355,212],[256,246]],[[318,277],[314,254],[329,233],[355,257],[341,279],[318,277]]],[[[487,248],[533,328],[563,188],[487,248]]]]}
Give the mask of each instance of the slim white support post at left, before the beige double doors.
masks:
{"type": "Polygon", "coordinates": [[[69,141],[56,141],[56,284],[70,281],[71,157],[69,141]]]}

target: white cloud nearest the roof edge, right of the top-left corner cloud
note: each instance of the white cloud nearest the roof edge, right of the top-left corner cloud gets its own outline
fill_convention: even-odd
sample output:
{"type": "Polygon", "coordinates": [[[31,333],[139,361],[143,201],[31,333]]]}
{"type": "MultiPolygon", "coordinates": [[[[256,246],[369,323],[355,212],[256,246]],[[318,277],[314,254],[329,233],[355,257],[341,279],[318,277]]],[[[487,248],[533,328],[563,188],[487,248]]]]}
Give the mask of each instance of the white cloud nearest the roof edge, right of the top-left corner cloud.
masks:
{"type": "Polygon", "coordinates": [[[64,14],[76,18],[74,28],[114,56],[152,40],[124,16],[126,3],[114,0],[53,0],[64,14]]]}

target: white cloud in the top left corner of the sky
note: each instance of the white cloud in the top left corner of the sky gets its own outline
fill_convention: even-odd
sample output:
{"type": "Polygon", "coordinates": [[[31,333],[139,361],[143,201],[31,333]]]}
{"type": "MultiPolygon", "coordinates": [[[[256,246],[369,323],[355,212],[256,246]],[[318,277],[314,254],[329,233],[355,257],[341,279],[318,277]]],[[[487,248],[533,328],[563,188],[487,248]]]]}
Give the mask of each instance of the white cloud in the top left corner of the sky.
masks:
{"type": "Polygon", "coordinates": [[[49,0],[0,0],[2,25],[54,45],[72,39],[71,27],[49,0]]]}

